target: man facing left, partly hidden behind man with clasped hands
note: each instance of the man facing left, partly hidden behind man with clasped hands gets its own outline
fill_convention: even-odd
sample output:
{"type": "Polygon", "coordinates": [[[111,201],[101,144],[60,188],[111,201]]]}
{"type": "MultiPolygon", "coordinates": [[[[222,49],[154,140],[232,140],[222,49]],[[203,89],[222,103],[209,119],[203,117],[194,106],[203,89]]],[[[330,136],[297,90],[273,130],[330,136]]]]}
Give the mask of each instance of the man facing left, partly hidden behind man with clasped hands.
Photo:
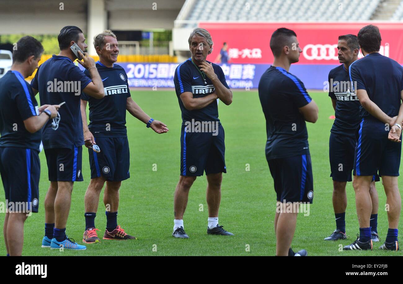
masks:
{"type": "MultiPolygon", "coordinates": [[[[335,120],[330,130],[329,138],[329,161],[330,176],[333,179],[333,209],[336,219],[336,230],[324,238],[325,240],[345,240],[346,223],[345,214],[347,208],[346,184],[352,181],[351,172],[354,164],[354,151],[357,140],[355,131],[358,128],[359,107],[357,95],[351,89],[349,66],[358,59],[359,45],[356,35],[341,35],[337,43],[339,50],[339,62],[343,63],[330,70],[329,97],[335,111],[335,120]]],[[[378,219],[378,193],[375,187],[375,180],[379,181],[379,176],[374,177],[371,182],[370,195],[372,200],[371,213],[371,238],[374,242],[379,241],[377,230],[378,219]]]]}

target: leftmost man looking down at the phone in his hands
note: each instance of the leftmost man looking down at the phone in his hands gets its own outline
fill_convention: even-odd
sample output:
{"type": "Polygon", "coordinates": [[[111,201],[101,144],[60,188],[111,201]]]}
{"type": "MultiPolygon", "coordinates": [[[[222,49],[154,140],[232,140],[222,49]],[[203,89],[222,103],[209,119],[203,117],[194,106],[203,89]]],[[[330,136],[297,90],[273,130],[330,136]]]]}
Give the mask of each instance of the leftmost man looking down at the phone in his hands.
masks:
{"type": "Polygon", "coordinates": [[[29,213],[38,212],[41,129],[56,117],[59,108],[38,108],[24,80],[38,68],[43,52],[35,38],[22,37],[12,54],[10,71],[0,79],[0,174],[8,209],[3,233],[7,255],[11,256],[22,254],[24,222],[29,213]]]}

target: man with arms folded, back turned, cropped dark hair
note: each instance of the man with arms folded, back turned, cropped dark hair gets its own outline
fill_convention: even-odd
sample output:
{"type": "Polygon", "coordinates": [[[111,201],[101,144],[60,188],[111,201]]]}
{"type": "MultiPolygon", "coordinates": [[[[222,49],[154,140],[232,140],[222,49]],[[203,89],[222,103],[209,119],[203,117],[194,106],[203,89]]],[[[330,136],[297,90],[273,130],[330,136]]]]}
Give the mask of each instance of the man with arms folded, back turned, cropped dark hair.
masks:
{"type": "Polygon", "coordinates": [[[298,210],[289,211],[287,203],[299,207],[314,197],[312,164],[305,121],[315,123],[318,106],[303,83],[289,73],[291,64],[302,52],[294,31],[280,28],[270,39],[274,62],[259,82],[259,98],[266,118],[266,159],[274,179],[277,208],[274,218],[277,256],[305,256],[305,249],[290,248],[297,225],[298,210]]]}

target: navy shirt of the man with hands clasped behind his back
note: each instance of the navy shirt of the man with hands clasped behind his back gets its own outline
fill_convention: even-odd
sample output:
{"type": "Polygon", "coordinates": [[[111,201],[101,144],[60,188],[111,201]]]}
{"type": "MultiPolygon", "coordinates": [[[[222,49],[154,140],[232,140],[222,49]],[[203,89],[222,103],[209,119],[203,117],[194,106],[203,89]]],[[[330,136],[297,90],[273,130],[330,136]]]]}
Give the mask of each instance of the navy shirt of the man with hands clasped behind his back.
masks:
{"type": "MultiPolygon", "coordinates": [[[[403,90],[403,67],[399,63],[374,52],[354,61],[349,73],[353,84],[357,82],[357,90],[366,90],[370,100],[385,114],[390,117],[399,114],[403,90]]],[[[362,119],[376,120],[362,106],[360,110],[362,119]]]]}

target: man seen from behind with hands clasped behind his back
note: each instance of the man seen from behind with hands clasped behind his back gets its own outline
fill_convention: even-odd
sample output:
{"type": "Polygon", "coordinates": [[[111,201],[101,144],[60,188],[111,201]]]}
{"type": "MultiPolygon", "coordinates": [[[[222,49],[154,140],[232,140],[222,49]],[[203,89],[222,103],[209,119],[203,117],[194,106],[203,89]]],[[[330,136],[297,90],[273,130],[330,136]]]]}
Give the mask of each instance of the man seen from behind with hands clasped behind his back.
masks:
{"type": "Polygon", "coordinates": [[[401,156],[401,124],[403,121],[403,67],[378,53],[381,36],[378,27],[367,25],[358,33],[364,58],[349,67],[362,108],[357,129],[353,187],[359,223],[359,236],[345,250],[371,250],[370,216],[372,202],[370,184],[374,174],[382,176],[388,204],[389,229],[384,250],[399,250],[397,239],[401,197],[398,176],[401,156]]]}

